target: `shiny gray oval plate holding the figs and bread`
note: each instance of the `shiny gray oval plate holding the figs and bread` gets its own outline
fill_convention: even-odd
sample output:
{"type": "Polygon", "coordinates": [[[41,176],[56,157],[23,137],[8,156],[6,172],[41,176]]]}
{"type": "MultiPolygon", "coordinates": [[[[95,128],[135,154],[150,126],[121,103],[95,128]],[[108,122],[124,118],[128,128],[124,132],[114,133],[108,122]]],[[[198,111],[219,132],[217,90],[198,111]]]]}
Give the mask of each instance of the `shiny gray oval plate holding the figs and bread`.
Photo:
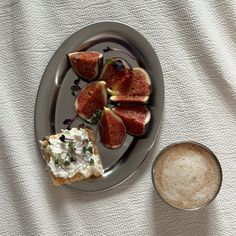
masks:
{"type": "MultiPolygon", "coordinates": [[[[140,166],[150,151],[158,135],[164,106],[164,82],[161,66],[155,51],[148,41],[131,27],[115,22],[102,22],[87,26],[70,36],[55,52],[41,80],[35,105],[36,139],[65,129],[63,121],[75,115],[74,97],[70,87],[77,78],[70,67],[67,54],[80,50],[96,50],[102,52],[107,46],[130,51],[137,60],[125,57],[133,66],[145,68],[151,78],[153,93],[148,107],[152,118],[148,132],[142,138],[127,136],[121,148],[111,150],[99,142],[96,126],[92,127],[97,137],[105,174],[100,178],[92,178],[70,185],[79,191],[101,191],[114,187],[140,166]]],[[[108,52],[106,58],[122,56],[108,52]]],[[[84,81],[80,86],[84,86],[84,81]]],[[[72,126],[85,123],[77,120],[72,126]]],[[[91,125],[90,125],[91,127],[91,125]]]]}

